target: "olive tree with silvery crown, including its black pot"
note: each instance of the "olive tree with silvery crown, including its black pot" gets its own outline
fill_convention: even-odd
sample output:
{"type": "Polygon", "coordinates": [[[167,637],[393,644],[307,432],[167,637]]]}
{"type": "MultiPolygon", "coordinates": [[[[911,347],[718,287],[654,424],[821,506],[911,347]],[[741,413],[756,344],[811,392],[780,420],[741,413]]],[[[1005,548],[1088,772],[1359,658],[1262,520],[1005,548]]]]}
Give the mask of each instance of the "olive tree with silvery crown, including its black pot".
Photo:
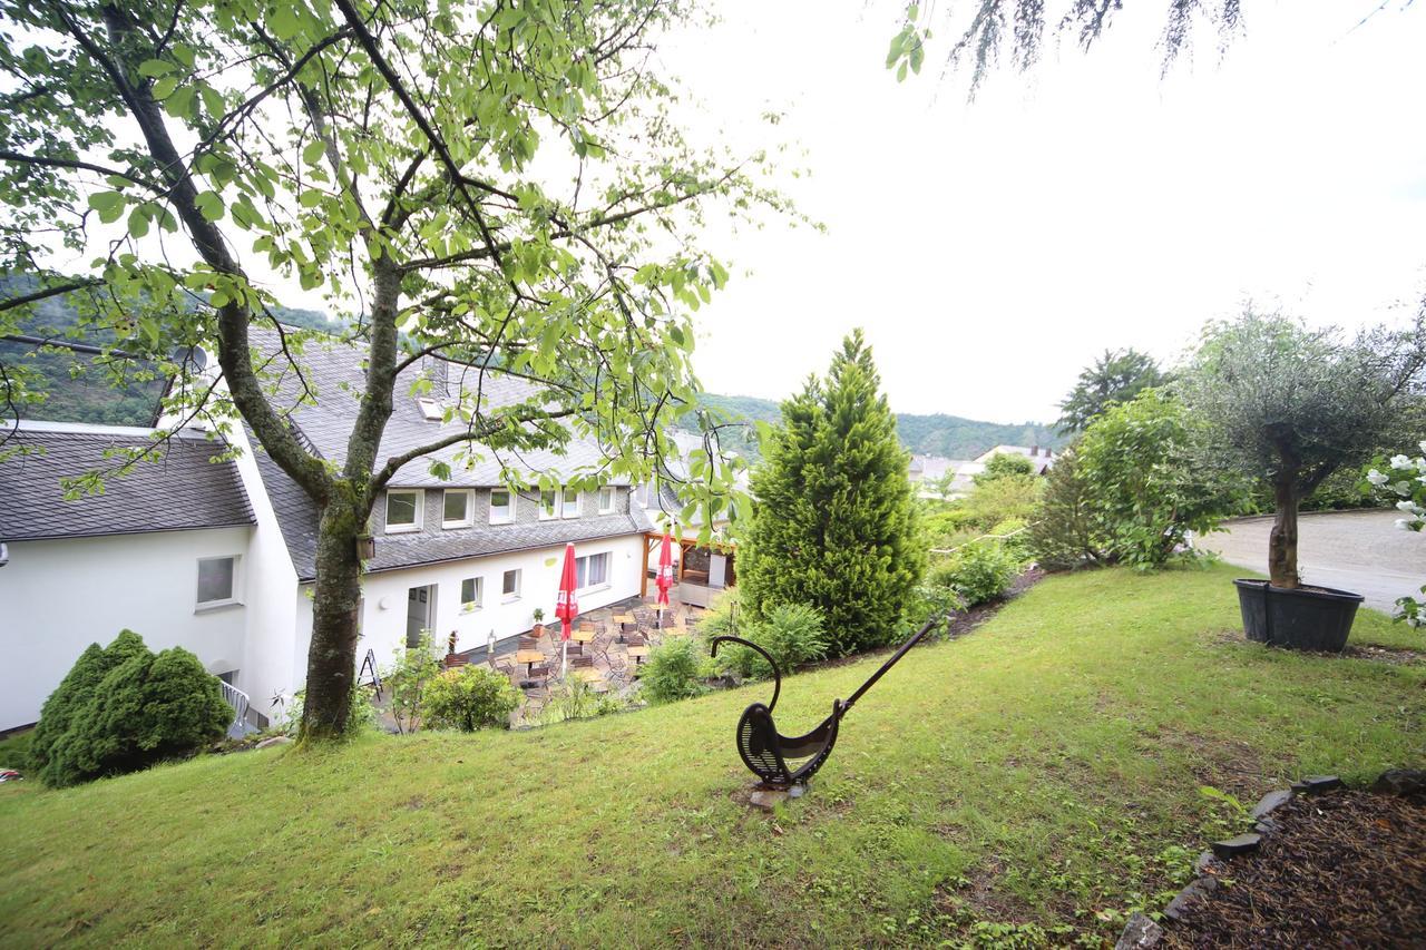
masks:
{"type": "Polygon", "coordinates": [[[1305,586],[1298,575],[1298,505],[1332,472],[1362,465],[1402,435],[1422,398],[1426,307],[1406,331],[1346,339],[1282,315],[1245,312],[1211,325],[1184,375],[1189,407],[1208,424],[1204,462],[1272,489],[1268,581],[1238,585],[1252,640],[1338,652],[1362,598],[1305,586]]]}

